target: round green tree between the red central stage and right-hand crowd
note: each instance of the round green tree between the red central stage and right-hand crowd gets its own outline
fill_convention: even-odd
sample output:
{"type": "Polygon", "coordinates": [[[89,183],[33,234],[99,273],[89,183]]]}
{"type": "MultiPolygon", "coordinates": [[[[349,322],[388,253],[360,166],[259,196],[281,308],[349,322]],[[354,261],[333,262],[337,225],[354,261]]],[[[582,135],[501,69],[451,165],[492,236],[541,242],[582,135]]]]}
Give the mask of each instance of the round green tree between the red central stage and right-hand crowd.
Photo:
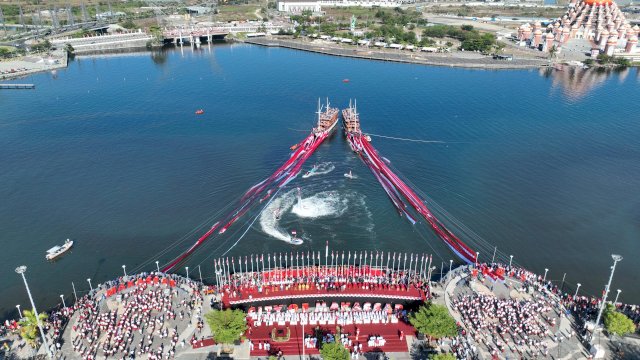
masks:
{"type": "Polygon", "coordinates": [[[419,332],[431,338],[455,336],[458,333],[456,321],[445,306],[428,303],[414,313],[409,322],[419,332]]]}

